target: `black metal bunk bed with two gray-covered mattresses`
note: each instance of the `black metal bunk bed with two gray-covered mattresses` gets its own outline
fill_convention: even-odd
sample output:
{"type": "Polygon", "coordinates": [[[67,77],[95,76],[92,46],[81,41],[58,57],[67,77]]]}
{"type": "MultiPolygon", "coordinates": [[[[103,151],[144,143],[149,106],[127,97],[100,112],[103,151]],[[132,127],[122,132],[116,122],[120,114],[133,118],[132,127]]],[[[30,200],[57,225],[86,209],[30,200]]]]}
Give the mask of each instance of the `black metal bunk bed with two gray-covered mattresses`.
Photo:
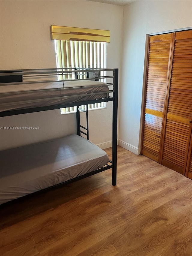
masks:
{"type": "Polygon", "coordinates": [[[77,106],[77,135],[1,151],[0,205],[108,169],[116,185],[117,100],[118,69],[1,70],[0,117],[77,106]],[[93,72],[97,79],[89,78],[93,72]],[[88,104],[108,101],[113,101],[112,161],[89,141],[88,129],[88,104]],[[86,112],[86,127],[80,111],[86,112]]]}

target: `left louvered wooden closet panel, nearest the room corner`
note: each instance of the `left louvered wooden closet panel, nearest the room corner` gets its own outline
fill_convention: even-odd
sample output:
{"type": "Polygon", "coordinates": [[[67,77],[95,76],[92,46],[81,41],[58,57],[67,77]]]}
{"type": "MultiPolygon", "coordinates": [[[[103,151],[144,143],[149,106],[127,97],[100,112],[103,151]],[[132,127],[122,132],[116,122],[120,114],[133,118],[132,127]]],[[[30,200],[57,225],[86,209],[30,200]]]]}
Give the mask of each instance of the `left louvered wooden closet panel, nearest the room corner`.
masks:
{"type": "Polygon", "coordinates": [[[142,154],[159,161],[173,33],[150,36],[142,154]]]}

